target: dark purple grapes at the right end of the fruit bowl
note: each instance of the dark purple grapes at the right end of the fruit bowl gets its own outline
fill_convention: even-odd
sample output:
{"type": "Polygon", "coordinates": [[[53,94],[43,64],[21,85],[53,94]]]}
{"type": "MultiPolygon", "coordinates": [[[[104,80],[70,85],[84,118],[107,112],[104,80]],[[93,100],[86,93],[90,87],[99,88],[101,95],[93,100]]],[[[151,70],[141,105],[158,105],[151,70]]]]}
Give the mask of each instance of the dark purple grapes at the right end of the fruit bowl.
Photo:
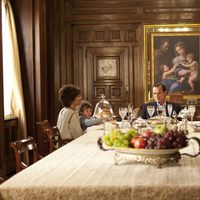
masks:
{"type": "Polygon", "coordinates": [[[169,130],[163,135],[153,134],[147,141],[147,149],[174,149],[187,146],[184,132],[169,130]]]}

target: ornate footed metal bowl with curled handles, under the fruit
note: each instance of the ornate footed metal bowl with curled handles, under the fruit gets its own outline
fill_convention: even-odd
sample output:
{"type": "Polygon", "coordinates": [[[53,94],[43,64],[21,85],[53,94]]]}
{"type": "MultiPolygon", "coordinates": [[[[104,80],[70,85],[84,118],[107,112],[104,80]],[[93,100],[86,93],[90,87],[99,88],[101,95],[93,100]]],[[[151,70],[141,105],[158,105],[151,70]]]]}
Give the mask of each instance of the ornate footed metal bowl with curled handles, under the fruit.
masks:
{"type": "MultiPolygon", "coordinates": [[[[163,164],[177,163],[182,155],[196,157],[200,155],[200,139],[196,137],[188,138],[189,140],[195,140],[198,143],[199,149],[198,152],[194,155],[188,153],[180,153],[180,149],[183,148],[174,148],[174,149],[136,149],[130,147],[108,147],[106,146],[102,138],[100,137],[97,141],[98,147],[103,151],[113,150],[114,162],[119,164],[122,160],[127,161],[136,161],[146,164],[155,165],[158,168],[161,168],[163,164]]],[[[189,143],[188,143],[189,144],[189,143]]],[[[184,147],[185,148],[185,147],[184,147]]]]}

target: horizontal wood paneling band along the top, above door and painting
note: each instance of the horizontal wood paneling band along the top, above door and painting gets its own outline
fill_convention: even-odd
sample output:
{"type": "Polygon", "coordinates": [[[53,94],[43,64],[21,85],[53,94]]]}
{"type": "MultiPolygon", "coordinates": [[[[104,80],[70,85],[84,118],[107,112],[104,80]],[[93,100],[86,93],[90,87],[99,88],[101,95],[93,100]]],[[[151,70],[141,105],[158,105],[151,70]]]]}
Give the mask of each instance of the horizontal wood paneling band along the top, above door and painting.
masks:
{"type": "Polygon", "coordinates": [[[199,21],[198,0],[73,0],[73,23],[179,23],[199,21]]]}

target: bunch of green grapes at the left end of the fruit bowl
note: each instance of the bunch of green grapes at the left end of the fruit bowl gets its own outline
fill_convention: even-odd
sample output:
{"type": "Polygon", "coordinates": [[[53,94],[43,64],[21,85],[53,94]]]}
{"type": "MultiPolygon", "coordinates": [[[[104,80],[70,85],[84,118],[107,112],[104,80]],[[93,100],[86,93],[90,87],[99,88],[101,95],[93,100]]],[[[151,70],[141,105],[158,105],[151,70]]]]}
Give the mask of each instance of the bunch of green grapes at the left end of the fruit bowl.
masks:
{"type": "Polygon", "coordinates": [[[125,133],[120,129],[113,129],[103,136],[103,142],[110,147],[129,147],[130,140],[138,134],[135,129],[129,129],[125,133]]]}

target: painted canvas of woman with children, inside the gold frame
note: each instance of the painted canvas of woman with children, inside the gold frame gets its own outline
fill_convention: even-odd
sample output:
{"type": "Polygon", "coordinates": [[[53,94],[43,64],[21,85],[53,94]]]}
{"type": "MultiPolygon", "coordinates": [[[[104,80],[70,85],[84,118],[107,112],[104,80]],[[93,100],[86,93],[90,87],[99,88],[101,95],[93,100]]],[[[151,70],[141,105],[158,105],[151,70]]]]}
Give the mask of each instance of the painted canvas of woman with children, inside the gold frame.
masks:
{"type": "Polygon", "coordinates": [[[164,84],[168,94],[200,95],[199,44],[199,36],[154,36],[154,83],[164,84]]]}

